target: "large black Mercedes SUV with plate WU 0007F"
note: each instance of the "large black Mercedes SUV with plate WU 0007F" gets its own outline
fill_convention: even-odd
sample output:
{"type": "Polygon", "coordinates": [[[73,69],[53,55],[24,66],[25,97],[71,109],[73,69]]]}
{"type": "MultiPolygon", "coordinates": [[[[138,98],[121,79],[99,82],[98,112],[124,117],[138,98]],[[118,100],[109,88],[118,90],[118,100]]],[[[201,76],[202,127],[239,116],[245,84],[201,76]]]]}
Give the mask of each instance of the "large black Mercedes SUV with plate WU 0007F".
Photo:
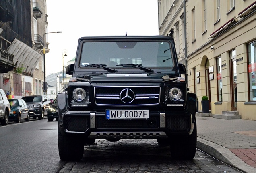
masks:
{"type": "Polygon", "coordinates": [[[66,73],[72,78],[57,96],[60,159],[81,159],[95,139],[156,139],[174,159],[194,158],[197,97],[173,38],[82,37],[66,73]]]}

